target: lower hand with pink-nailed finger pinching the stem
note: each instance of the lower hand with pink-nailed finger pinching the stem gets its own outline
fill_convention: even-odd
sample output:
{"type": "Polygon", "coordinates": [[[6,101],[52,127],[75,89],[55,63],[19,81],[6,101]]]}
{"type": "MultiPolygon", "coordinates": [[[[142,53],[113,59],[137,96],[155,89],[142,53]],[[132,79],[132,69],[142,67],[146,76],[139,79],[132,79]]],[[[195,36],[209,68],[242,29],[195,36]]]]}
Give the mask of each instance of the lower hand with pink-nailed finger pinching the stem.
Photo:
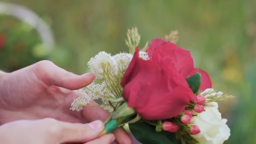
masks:
{"type": "Polygon", "coordinates": [[[113,134],[97,139],[103,129],[104,124],[100,120],[88,124],[67,123],[52,118],[18,120],[0,126],[0,139],[3,144],[112,143],[115,140],[113,134]]]}

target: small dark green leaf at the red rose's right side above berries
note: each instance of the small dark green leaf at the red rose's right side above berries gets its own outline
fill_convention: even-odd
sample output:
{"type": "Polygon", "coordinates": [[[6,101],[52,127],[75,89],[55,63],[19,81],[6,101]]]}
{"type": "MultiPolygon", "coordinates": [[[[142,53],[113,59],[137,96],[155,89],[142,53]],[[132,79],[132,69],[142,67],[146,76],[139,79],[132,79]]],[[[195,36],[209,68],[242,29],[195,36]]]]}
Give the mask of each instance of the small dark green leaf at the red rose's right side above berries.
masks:
{"type": "Polygon", "coordinates": [[[197,93],[198,89],[200,88],[201,84],[201,74],[195,73],[194,75],[186,78],[189,87],[193,91],[193,93],[197,93]]]}

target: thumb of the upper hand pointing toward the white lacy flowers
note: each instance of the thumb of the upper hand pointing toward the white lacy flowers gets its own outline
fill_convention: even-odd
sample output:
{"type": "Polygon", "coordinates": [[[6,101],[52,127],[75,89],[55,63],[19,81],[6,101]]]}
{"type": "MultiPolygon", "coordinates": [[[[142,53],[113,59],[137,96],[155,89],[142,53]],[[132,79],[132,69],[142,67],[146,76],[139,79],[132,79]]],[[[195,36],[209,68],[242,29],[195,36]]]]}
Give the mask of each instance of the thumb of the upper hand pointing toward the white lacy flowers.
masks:
{"type": "Polygon", "coordinates": [[[53,64],[51,61],[40,61],[31,66],[35,75],[49,85],[75,90],[89,85],[94,80],[94,75],[75,75],[53,64]]]}

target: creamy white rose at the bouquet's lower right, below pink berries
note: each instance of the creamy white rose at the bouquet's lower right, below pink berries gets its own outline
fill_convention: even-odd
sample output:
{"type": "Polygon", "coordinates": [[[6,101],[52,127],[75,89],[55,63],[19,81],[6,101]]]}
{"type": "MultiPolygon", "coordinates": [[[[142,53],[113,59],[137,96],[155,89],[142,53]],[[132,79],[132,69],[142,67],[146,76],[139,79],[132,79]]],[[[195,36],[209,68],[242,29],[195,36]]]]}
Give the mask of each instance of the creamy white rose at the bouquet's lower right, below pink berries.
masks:
{"type": "Polygon", "coordinates": [[[221,119],[218,103],[213,102],[213,107],[206,107],[205,112],[197,113],[191,122],[200,128],[200,133],[191,135],[200,144],[223,144],[230,136],[227,119],[221,119]]]}

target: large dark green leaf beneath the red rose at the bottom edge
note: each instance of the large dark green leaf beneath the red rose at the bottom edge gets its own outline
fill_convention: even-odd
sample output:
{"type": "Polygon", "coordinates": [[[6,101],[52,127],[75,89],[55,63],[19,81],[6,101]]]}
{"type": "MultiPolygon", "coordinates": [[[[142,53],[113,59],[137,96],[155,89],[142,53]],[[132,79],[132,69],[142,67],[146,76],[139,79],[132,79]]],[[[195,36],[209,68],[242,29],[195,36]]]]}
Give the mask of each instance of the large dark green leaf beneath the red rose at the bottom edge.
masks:
{"type": "Polygon", "coordinates": [[[155,131],[155,126],[148,123],[132,123],[129,128],[133,136],[142,144],[176,144],[175,133],[155,131]]]}

